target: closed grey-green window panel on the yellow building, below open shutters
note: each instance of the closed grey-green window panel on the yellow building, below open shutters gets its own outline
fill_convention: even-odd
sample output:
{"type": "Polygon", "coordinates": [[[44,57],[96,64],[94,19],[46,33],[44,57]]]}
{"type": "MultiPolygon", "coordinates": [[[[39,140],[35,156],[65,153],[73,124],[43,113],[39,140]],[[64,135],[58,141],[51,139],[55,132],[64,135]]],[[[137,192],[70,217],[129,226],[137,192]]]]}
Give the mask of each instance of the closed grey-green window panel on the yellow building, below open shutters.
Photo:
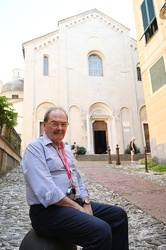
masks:
{"type": "Polygon", "coordinates": [[[153,93],[166,84],[166,71],[164,59],[161,57],[151,68],[150,77],[153,93]]]}

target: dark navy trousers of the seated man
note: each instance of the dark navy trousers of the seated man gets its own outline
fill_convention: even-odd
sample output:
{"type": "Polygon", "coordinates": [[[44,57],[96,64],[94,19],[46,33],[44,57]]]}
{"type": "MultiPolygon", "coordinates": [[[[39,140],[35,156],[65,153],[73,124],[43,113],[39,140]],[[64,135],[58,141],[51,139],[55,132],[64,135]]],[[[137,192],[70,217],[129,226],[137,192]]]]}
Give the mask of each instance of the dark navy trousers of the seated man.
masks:
{"type": "Polygon", "coordinates": [[[91,202],[89,215],[71,207],[33,205],[32,227],[47,237],[62,238],[84,250],[128,250],[128,219],[119,207],[91,202]]]}

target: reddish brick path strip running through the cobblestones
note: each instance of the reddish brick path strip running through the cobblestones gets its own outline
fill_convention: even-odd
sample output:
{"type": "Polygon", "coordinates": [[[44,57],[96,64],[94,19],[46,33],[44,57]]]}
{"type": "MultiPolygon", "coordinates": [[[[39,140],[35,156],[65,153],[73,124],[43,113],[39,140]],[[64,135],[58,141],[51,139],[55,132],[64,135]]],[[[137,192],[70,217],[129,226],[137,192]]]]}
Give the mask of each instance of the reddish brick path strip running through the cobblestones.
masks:
{"type": "Polygon", "coordinates": [[[78,161],[77,166],[85,175],[166,224],[166,187],[109,168],[105,161],[78,161]]]}

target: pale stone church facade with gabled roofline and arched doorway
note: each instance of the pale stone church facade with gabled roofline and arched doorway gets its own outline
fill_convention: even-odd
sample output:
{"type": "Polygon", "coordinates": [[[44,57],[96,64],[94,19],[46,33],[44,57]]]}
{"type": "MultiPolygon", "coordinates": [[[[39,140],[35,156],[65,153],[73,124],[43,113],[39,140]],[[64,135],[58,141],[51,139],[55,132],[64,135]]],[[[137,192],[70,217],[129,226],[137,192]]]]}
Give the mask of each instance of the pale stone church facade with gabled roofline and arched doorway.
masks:
{"type": "Polygon", "coordinates": [[[87,154],[124,153],[131,137],[144,150],[148,124],[136,41],[129,28],[90,11],[58,22],[58,29],[23,43],[22,149],[40,136],[46,109],[69,114],[64,141],[87,154]],[[146,135],[146,136],[145,136],[146,135]]]}

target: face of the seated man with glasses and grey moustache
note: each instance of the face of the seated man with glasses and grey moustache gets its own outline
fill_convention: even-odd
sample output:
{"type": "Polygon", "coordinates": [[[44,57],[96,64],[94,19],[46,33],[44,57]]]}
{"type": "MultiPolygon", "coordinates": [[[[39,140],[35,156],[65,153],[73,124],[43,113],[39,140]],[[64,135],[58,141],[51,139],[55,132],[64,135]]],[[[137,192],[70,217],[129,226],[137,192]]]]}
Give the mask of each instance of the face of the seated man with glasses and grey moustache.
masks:
{"type": "Polygon", "coordinates": [[[50,113],[48,121],[43,122],[46,135],[58,146],[62,142],[68,126],[66,114],[61,110],[54,110],[50,113]]]}

